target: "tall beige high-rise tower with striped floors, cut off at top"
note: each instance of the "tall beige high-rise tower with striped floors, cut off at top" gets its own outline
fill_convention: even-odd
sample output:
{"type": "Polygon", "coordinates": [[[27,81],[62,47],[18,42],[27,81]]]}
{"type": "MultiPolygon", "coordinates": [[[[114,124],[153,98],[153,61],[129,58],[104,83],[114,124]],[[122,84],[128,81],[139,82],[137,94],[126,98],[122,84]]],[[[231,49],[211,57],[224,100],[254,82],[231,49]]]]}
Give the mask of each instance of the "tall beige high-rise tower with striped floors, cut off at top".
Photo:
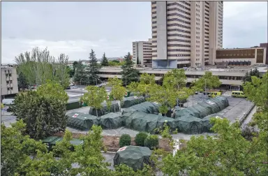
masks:
{"type": "Polygon", "coordinates": [[[223,1],[152,1],[152,67],[213,64],[223,47],[223,1]]]}

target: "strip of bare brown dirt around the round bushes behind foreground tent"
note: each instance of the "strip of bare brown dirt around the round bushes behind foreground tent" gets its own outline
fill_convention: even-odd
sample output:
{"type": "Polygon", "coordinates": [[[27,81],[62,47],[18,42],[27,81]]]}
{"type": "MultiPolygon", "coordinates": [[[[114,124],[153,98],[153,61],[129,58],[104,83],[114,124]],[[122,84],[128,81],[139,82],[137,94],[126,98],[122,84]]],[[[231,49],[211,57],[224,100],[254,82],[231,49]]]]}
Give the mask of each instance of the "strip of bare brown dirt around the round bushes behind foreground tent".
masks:
{"type": "MultiPolygon", "coordinates": [[[[64,132],[59,132],[54,135],[63,137],[64,132]]],[[[84,135],[86,134],[73,133],[73,138],[80,138],[81,136],[84,136],[84,135]]],[[[117,150],[120,148],[119,140],[120,140],[120,136],[114,136],[114,135],[103,135],[103,138],[102,138],[103,145],[105,145],[105,147],[107,147],[107,150],[111,152],[117,152],[117,150]]],[[[134,140],[135,138],[132,137],[131,145],[136,145],[134,140]]],[[[170,142],[168,139],[159,139],[159,148],[164,149],[165,151],[172,151],[170,147],[170,142]]]]}

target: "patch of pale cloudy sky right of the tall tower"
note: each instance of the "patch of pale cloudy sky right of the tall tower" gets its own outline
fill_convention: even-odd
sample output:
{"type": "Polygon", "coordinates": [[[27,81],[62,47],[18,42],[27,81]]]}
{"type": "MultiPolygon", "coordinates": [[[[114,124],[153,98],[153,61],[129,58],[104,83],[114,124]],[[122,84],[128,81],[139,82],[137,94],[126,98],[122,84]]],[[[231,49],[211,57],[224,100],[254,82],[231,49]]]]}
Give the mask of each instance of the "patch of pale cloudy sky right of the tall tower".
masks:
{"type": "Polygon", "coordinates": [[[223,47],[267,43],[267,2],[224,1],[223,47]]]}

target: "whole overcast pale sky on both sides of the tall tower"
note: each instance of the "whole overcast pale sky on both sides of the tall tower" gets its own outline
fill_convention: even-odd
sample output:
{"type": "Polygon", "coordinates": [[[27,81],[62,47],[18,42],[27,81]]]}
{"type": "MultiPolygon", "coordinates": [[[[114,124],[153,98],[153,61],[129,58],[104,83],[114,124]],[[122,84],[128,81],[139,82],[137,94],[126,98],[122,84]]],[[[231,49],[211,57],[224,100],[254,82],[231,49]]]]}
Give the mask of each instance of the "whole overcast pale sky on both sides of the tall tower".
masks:
{"type": "MultiPolygon", "coordinates": [[[[133,41],[151,38],[150,1],[1,2],[1,63],[47,47],[69,60],[123,57],[133,41]]],[[[224,1],[223,47],[267,43],[267,1],[224,1]]]]}

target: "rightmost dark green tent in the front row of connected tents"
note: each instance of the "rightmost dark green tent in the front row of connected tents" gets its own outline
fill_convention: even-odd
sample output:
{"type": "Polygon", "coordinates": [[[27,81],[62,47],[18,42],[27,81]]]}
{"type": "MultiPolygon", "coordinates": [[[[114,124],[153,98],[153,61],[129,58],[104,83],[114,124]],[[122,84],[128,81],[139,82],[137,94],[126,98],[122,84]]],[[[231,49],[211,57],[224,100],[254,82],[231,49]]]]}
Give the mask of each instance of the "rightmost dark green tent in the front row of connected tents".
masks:
{"type": "Polygon", "coordinates": [[[186,134],[200,134],[202,133],[203,124],[202,119],[193,117],[191,115],[184,115],[174,119],[177,124],[178,131],[186,134]]]}

